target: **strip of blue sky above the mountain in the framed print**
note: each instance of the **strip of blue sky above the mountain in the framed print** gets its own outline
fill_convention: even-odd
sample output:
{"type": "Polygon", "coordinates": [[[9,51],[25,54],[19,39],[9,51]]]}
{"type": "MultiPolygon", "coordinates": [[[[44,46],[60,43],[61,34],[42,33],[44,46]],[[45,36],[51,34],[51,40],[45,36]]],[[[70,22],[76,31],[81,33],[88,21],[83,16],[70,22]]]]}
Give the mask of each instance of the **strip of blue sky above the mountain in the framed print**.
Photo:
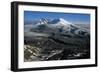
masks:
{"type": "Polygon", "coordinates": [[[31,22],[33,20],[38,20],[41,18],[63,18],[74,24],[90,24],[90,14],[24,11],[25,22],[31,22]]]}

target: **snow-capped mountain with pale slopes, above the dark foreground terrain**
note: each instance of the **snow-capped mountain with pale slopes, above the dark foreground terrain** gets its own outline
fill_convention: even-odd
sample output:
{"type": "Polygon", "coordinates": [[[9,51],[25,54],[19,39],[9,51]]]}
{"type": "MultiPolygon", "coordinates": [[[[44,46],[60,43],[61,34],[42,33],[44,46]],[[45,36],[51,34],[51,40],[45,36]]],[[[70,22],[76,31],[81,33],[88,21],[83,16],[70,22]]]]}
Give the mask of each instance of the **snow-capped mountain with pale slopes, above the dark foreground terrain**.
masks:
{"type": "Polygon", "coordinates": [[[87,36],[89,35],[89,29],[72,24],[63,18],[59,19],[40,19],[39,23],[25,26],[25,29],[29,29],[30,32],[47,33],[47,34],[64,34],[71,36],[87,36]],[[31,27],[30,27],[31,26],[31,27]],[[30,27],[30,28],[27,28],[30,27]]]}

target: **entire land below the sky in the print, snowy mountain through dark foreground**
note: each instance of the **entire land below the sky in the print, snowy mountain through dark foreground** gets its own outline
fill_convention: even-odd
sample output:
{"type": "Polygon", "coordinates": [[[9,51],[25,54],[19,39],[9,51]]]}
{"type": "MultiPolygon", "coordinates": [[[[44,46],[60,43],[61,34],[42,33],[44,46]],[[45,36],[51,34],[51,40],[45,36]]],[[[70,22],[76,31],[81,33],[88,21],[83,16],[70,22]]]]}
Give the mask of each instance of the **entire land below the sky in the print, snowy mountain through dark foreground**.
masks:
{"type": "Polygon", "coordinates": [[[59,18],[25,25],[24,61],[90,58],[90,29],[59,18]]]}

